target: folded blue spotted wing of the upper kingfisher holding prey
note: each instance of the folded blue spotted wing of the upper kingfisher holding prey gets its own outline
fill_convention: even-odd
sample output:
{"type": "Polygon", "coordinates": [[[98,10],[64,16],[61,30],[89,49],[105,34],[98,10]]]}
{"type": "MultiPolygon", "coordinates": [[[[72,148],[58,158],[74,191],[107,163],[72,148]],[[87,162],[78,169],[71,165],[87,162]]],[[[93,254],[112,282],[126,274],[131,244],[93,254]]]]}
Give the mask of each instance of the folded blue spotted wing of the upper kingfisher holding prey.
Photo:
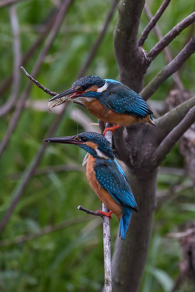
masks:
{"type": "Polygon", "coordinates": [[[141,117],[145,117],[148,114],[153,114],[145,100],[123,84],[117,85],[110,89],[110,95],[106,98],[106,104],[108,107],[120,114],[129,114],[141,117]]]}

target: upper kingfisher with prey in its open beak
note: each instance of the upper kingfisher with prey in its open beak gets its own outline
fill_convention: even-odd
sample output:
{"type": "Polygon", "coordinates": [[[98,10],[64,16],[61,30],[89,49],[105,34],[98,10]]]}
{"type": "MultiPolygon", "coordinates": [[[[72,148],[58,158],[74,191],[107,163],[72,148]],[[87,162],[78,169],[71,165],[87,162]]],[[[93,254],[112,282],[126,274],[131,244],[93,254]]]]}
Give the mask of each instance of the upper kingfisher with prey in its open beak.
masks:
{"type": "MultiPolygon", "coordinates": [[[[73,86],[51,98],[57,100],[70,94],[70,98],[81,98],[88,111],[101,121],[114,124],[106,128],[113,131],[120,126],[146,121],[154,126],[153,112],[145,100],[128,86],[113,79],[101,79],[98,76],[85,76],[73,83],[73,86]]],[[[59,105],[65,102],[58,102],[59,105]]],[[[53,107],[54,107],[53,106],[53,107]]]]}

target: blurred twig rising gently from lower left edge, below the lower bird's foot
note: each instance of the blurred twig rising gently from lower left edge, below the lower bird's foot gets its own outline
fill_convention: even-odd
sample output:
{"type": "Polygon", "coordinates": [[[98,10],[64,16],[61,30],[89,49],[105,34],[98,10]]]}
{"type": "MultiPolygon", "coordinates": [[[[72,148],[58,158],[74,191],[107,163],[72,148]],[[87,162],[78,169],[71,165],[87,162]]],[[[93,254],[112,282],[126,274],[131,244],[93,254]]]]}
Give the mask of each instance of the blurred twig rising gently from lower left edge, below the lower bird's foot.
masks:
{"type": "MultiPolygon", "coordinates": [[[[103,216],[103,215],[102,215],[103,216]]],[[[42,235],[57,231],[57,230],[61,230],[65,227],[69,227],[73,224],[77,224],[77,223],[82,223],[85,221],[90,220],[90,218],[88,216],[84,216],[84,217],[78,217],[75,219],[70,219],[70,220],[66,220],[64,222],[55,224],[55,225],[47,225],[45,226],[43,229],[38,230],[37,232],[32,232],[29,234],[25,234],[25,235],[19,235],[17,237],[15,237],[14,239],[4,239],[0,241],[0,247],[3,246],[9,246],[12,244],[18,244],[21,242],[25,242],[25,241],[29,241],[31,239],[40,237],[42,235]]]]}

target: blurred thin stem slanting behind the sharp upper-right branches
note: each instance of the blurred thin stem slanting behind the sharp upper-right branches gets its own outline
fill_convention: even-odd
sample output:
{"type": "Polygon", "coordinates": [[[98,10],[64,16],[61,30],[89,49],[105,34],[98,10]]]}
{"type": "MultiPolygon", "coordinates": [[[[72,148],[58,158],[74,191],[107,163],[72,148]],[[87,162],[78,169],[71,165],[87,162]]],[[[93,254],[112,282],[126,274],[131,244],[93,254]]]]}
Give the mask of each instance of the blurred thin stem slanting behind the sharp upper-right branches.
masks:
{"type": "MultiPolygon", "coordinates": [[[[145,5],[144,5],[144,11],[145,11],[148,19],[151,20],[152,19],[152,14],[151,14],[151,11],[150,11],[149,6],[147,5],[147,3],[145,3],[145,5]]],[[[158,37],[159,40],[161,40],[163,38],[163,35],[162,35],[161,31],[160,31],[160,28],[159,28],[158,24],[155,25],[154,32],[155,32],[155,34],[156,34],[156,36],[158,37]]],[[[172,55],[171,55],[171,52],[170,52],[169,48],[165,47],[164,48],[164,52],[165,52],[165,58],[166,58],[167,62],[170,63],[173,60],[173,58],[172,58],[172,55]]],[[[182,92],[184,90],[184,87],[183,87],[183,84],[182,84],[182,82],[180,80],[180,76],[179,76],[178,72],[175,72],[173,74],[173,79],[174,79],[175,84],[177,85],[178,89],[182,92]]]]}

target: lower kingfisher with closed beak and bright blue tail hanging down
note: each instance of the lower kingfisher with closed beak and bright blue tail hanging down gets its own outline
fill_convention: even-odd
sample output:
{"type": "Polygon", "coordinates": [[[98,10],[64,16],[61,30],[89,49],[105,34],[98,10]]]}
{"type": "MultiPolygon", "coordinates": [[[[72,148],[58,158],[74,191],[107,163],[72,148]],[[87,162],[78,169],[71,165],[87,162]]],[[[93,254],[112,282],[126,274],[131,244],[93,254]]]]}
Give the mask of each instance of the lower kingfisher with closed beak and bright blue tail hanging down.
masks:
{"type": "Polygon", "coordinates": [[[115,160],[110,142],[102,135],[94,132],[81,133],[75,136],[45,139],[46,142],[75,144],[89,152],[86,175],[89,185],[99,199],[110,210],[99,213],[111,218],[114,213],[120,222],[121,239],[131,220],[131,210],[139,211],[132,190],[124,171],[115,160]]]}

